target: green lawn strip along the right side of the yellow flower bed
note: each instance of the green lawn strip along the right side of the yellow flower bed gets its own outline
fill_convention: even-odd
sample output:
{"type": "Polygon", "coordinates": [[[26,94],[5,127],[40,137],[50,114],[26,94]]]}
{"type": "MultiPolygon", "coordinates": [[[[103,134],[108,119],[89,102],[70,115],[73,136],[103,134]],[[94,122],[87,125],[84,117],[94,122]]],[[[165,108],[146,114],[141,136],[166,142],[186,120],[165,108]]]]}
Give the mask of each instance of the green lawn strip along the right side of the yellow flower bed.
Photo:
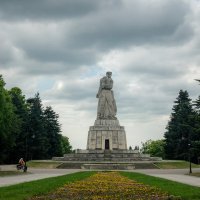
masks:
{"type": "Polygon", "coordinates": [[[152,177],[140,173],[134,172],[120,172],[123,176],[130,179],[134,179],[138,182],[155,186],[165,192],[169,192],[171,195],[181,196],[184,200],[199,200],[200,199],[200,188],[194,187],[174,181],[169,181],[162,178],[152,177]]]}

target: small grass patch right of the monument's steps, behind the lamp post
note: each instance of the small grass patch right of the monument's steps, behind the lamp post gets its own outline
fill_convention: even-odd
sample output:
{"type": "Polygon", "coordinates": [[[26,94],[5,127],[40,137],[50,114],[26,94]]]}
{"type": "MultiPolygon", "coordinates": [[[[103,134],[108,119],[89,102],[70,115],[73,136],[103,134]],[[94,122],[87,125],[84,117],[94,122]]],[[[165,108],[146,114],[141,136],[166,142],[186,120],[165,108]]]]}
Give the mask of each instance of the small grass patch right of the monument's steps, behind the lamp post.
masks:
{"type": "MultiPolygon", "coordinates": [[[[174,161],[174,162],[156,162],[154,163],[160,169],[185,169],[189,168],[189,162],[174,161]]],[[[192,168],[199,168],[199,165],[192,163],[192,168]]]]}

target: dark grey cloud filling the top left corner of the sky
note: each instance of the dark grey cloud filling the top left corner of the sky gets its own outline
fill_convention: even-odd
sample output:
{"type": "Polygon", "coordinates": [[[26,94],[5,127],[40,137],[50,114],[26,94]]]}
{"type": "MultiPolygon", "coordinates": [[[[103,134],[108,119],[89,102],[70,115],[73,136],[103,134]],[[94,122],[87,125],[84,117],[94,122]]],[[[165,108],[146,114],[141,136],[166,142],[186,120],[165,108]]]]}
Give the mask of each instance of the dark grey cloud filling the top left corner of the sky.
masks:
{"type": "Polygon", "coordinates": [[[81,17],[100,6],[93,0],[9,0],[0,1],[0,19],[19,20],[58,20],[81,17]]]}

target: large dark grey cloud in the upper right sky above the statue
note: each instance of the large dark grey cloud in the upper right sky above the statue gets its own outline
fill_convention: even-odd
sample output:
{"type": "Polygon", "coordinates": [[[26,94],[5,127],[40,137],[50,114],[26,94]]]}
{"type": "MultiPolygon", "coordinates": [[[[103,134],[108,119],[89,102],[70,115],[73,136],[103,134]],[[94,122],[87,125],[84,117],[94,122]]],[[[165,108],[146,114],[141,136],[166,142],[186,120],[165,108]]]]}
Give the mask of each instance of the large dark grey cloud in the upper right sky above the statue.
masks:
{"type": "Polygon", "coordinates": [[[192,33],[182,34],[180,27],[190,8],[184,1],[164,1],[159,5],[128,1],[128,5],[88,15],[74,24],[71,42],[78,46],[97,46],[103,50],[125,48],[143,43],[175,42],[190,39],[192,33]],[[149,6],[150,5],[150,6],[149,6]],[[75,42],[76,41],[76,42],[75,42]]]}

